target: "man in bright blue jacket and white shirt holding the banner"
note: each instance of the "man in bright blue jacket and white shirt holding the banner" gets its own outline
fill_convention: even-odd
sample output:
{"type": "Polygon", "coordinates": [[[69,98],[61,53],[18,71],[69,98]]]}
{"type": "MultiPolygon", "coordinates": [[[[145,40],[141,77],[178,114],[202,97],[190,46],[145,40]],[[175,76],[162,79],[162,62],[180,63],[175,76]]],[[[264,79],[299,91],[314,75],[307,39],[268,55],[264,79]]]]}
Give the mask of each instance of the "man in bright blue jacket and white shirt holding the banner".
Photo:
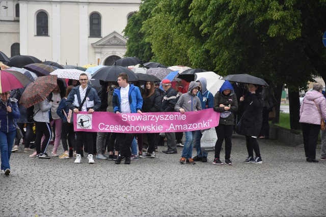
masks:
{"type": "MultiPolygon", "coordinates": [[[[118,75],[119,87],[113,92],[112,105],[116,114],[120,113],[142,113],[143,98],[139,87],[128,83],[127,73],[118,75]]],[[[119,133],[120,138],[120,154],[115,164],[120,164],[125,157],[124,164],[130,164],[131,142],[134,138],[133,133],[119,133]]]]}

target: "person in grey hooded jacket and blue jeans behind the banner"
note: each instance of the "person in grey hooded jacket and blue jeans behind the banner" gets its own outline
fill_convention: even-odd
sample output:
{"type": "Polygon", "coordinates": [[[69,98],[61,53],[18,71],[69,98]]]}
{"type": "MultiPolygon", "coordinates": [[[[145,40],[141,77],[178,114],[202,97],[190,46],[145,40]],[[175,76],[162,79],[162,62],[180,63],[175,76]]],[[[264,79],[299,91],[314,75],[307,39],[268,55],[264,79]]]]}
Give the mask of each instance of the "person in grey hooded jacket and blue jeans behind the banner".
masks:
{"type": "MultiPolygon", "coordinates": [[[[190,82],[188,92],[182,94],[175,105],[175,111],[180,111],[181,113],[187,111],[198,111],[202,110],[202,105],[197,97],[197,93],[199,91],[199,84],[195,81],[190,82]]],[[[181,154],[180,163],[185,164],[195,164],[193,157],[193,134],[195,131],[187,131],[185,132],[185,142],[181,154]]]]}

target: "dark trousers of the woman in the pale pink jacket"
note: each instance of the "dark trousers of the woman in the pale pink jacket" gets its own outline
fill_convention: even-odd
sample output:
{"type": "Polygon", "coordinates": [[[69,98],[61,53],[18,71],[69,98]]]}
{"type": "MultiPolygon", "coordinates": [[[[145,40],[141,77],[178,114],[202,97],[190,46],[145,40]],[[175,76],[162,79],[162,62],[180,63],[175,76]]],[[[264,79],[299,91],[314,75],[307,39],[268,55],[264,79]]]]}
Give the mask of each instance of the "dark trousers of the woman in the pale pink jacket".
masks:
{"type": "Polygon", "coordinates": [[[316,159],[316,147],[319,131],[320,125],[302,123],[302,136],[304,137],[306,158],[316,159]]]}

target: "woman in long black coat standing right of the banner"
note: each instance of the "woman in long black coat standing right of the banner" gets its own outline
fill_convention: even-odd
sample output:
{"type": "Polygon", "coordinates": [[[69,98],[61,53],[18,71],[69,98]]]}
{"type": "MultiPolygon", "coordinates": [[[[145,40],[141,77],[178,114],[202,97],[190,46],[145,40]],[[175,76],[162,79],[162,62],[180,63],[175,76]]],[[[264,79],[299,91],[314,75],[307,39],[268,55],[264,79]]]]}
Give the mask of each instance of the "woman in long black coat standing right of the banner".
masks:
{"type": "Polygon", "coordinates": [[[262,124],[263,98],[258,91],[258,85],[249,84],[248,89],[248,94],[240,98],[240,107],[243,108],[240,134],[246,136],[248,150],[248,158],[244,162],[261,164],[262,159],[257,137],[262,124]],[[254,151],[256,158],[254,158],[254,151]]]}

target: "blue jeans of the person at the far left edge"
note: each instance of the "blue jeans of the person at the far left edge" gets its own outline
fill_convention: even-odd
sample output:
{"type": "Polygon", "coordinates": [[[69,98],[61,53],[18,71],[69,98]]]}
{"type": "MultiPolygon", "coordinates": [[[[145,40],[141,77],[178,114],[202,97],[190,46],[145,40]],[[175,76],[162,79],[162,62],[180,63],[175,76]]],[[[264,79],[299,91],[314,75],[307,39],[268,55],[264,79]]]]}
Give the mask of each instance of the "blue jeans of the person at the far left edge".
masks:
{"type": "Polygon", "coordinates": [[[12,144],[16,137],[16,130],[5,133],[0,131],[0,151],[1,151],[1,169],[10,169],[9,160],[11,155],[12,144]]]}

